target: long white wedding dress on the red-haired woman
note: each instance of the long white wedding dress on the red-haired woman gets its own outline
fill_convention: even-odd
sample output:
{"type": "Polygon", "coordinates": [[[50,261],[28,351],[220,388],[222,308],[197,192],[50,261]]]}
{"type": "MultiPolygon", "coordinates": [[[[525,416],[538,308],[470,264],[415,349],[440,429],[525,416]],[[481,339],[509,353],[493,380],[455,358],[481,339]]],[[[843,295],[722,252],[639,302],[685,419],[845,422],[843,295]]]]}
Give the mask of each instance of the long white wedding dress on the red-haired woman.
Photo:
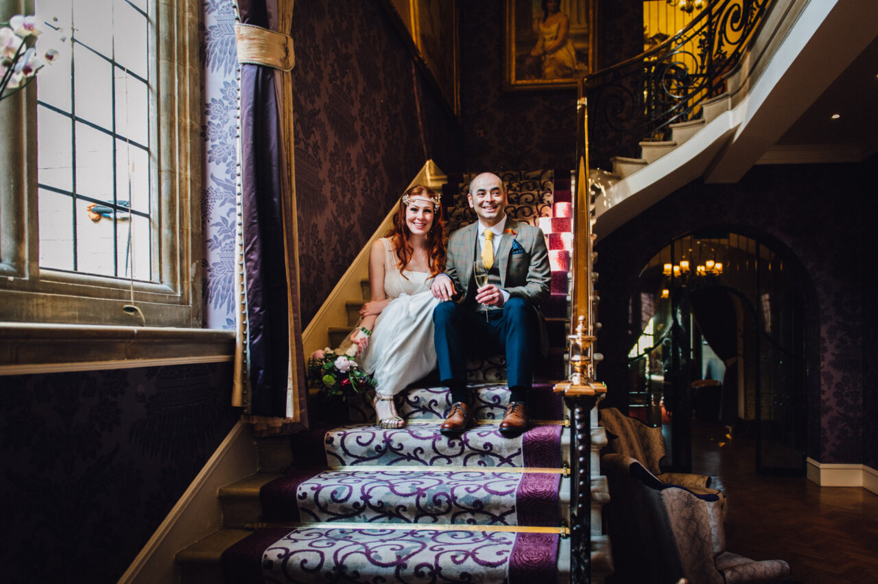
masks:
{"type": "Polygon", "coordinates": [[[409,383],[427,375],[436,365],[433,309],[439,300],[430,292],[427,272],[396,267],[390,239],[385,246],[385,295],[391,301],[378,315],[360,367],[373,374],[382,395],[396,395],[409,383]]]}

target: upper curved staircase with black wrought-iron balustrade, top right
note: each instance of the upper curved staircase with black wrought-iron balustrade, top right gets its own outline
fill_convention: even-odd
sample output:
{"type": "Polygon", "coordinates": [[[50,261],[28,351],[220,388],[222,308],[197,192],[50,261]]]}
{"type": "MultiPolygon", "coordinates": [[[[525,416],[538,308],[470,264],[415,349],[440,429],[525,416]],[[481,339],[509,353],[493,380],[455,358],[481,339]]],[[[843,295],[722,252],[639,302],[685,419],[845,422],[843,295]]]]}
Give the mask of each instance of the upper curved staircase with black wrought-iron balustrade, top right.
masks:
{"type": "Polygon", "coordinates": [[[738,13],[738,0],[715,0],[659,46],[588,76],[587,148],[605,169],[590,174],[601,186],[599,239],[690,182],[733,183],[755,164],[795,161],[778,142],[874,39],[861,23],[878,4],[747,4],[738,13]],[[697,66],[680,58],[686,46],[697,66]]]}

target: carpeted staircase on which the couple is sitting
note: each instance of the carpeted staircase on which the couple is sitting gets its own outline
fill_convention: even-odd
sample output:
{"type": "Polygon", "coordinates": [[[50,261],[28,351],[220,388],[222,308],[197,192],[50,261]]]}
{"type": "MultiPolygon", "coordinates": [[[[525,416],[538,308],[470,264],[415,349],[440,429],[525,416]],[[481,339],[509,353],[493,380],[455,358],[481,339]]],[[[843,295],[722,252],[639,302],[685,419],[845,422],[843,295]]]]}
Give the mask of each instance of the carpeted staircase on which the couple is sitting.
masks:
{"type": "MultiPolygon", "coordinates": [[[[326,412],[306,434],[259,441],[259,472],[219,491],[224,529],[177,554],[181,582],[572,580],[572,433],[553,391],[553,381],[565,378],[569,175],[502,176],[510,189],[507,212],[543,227],[550,247],[551,300],[543,312],[555,346],[536,367],[529,431],[519,438],[498,431],[508,394],[502,356],[469,363],[477,423],[458,438],[439,433],[450,395],[435,380],[397,396],[407,420],[399,430],[375,426],[371,405],[356,396],[346,412],[326,412]],[[344,419],[332,424],[332,417],[344,419]]],[[[449,231],[472,220],[469,178],[450,177],[443,189],[449,231]]],[[[362,302],[349,302],[351,326],[362,302]]],[[[334,343],[348,332],[330,331],[334,343]]],[[[591,425],[596,473],[604,440],[594,416],[591,425]]],[[[601,540],[602,478],[592,491],[594,536],[601,540]]],[[[607,542],[599,547],[608,566],[607,542]]]]}

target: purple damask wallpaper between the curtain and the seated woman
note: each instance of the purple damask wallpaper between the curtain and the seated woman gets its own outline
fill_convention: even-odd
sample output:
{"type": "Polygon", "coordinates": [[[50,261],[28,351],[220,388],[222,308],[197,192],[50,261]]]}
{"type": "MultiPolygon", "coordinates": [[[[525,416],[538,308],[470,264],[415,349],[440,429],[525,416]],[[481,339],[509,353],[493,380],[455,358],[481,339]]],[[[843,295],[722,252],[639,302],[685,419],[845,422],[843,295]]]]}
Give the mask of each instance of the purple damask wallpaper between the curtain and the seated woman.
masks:
{"type": "Polygon", "coordinates": [[[460,167],[459,125],[381,3],[297,0],[292,36],[307,323],[424,162],[460,167]]]}

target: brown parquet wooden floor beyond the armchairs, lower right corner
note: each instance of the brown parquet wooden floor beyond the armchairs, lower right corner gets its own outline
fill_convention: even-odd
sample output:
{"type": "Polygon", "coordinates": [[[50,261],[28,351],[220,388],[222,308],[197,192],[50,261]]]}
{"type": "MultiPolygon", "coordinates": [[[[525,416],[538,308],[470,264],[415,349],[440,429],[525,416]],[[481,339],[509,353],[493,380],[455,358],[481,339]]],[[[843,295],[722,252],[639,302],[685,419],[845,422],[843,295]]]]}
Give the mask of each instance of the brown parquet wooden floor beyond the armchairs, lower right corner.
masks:
{"type": "Polygon", "coordinates": [[[728,497],[730,552],[785,559],[803,584],[878,582],[878,495],[759,476],[755,440],[726,438],[719,424],[693,420],[693,438],[693,472],[714,476],[728,497]]]}

